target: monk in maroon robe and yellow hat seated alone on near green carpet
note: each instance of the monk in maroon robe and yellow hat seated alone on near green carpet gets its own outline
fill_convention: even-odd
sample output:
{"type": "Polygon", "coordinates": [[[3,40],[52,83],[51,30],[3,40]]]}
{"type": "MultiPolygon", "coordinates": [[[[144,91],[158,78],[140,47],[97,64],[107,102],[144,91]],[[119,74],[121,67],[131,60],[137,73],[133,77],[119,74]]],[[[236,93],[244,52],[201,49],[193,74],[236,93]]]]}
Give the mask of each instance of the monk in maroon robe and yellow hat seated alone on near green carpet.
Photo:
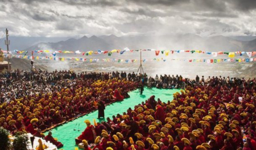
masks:
{"type": "Polygon", "coordinates": [[[84,132],[78,136],[79,140],[86,140],[89,144],[93,143],[96,138],[96,132],[94,129],[94,126],[91,125],[91,122],[89,120],[84,121],[87,125],[84,132]]]}

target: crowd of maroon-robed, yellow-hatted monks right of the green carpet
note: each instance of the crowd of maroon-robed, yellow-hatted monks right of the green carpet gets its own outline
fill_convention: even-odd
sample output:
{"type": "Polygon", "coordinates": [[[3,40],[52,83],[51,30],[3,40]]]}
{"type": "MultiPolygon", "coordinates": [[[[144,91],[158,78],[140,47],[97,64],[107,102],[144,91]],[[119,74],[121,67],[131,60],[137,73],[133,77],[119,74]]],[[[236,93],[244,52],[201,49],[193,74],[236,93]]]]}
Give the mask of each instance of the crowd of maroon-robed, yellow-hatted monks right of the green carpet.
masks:
{"type": "Polygon", "coordinates": [[[255,150],[255,79],[232,80],[209,78],[173,94],[167,103],[151,96],[94,126],[85,120],[78,139],[93,150],[255,150]]]}

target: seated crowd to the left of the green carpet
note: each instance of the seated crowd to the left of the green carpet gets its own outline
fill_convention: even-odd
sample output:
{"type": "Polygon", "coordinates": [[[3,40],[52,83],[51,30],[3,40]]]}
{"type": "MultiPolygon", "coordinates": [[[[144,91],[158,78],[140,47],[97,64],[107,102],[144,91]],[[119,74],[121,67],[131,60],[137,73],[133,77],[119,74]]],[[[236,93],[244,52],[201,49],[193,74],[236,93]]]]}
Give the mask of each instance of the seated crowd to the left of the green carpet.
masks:
{"type": "Polygon", "coordinates": [[[112,73],[17,70],[1,76],[0,126],[11,134],[22,131],[39,137],[47,128],[96,110],[98,102],[107,105],[129,97],[138,87],[112,73]]]}

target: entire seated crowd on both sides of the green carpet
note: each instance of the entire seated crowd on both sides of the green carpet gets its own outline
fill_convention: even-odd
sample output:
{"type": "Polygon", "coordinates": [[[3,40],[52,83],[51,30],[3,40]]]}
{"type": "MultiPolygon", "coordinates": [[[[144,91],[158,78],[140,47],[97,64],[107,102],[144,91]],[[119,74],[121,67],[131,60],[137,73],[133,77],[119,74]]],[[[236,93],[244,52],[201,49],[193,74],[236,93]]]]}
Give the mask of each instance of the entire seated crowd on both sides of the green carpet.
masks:
{"type": "MultiPolygon", "coordinates": [[[[197,76],[189,82],[167,75],[149,79],[146,74],[117,71],[7,72],[0,75],[0,126],[11,134],[22,131],[42,137],[41,131],[90,113],[99,102],[107,105],[129,97],[139,82],[146,86],[176,83],[172,87],[183,83],[186,88],[174,94],[172,102],[155,102],[152,96],[107,122],[92,126],[85,121],[88,127],[78,139],[84,140],[85,149],[90,149],[89,143],[96,144],[93,149],[256,150],[255,79],[209,77],[205,81],[202,77],[199,81],[197,76]]],[[[51,133],[45,138],[63,146],[51,133]]]]}

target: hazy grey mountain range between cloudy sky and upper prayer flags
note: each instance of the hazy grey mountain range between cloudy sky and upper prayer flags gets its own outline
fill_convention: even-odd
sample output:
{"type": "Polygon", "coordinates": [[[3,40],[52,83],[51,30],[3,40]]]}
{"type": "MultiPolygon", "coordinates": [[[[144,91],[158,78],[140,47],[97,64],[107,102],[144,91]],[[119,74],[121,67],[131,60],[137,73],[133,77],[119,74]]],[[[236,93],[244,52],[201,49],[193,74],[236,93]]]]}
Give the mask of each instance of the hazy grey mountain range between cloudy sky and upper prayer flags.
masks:
{"type": "MultiPolygon", "coordinates": [[[[123,36],[117,37],[115,35],[109,36],[91,36],[82,38],[44,38],[29,40],[24,38],[13,38],[11,40],[11,50],[80,50],[96,51],[123,49],[202,49],[207,51],[254,51],[256,50],[255,37],[242,40],[242,37],[225,37],[212,36],[201,37],[194,34],[185,35],[168,35],[168,36],[123,36]],[[20,41],[18,41],[20,40],[20,41]],[[249,41],[248,41],[249,40],[249,41]],[[26,42],[25,42],[26,41],[26,42]],[[29,42],[30,41],[30,42],[29,42]],[[41,42],[43,41],[43,42],[41,42]],[[51,41],[51,42],[50,42],[51,41]],[[20,48],[13,44],[14,42],[20,44],[20,48]],[[12,45],[13,44],[13,45],[12,45]],[[27,45],[27,47],[26,47],[27,45]]],[[[3,45],[2,45],[3,47],[3,45]]]]}

